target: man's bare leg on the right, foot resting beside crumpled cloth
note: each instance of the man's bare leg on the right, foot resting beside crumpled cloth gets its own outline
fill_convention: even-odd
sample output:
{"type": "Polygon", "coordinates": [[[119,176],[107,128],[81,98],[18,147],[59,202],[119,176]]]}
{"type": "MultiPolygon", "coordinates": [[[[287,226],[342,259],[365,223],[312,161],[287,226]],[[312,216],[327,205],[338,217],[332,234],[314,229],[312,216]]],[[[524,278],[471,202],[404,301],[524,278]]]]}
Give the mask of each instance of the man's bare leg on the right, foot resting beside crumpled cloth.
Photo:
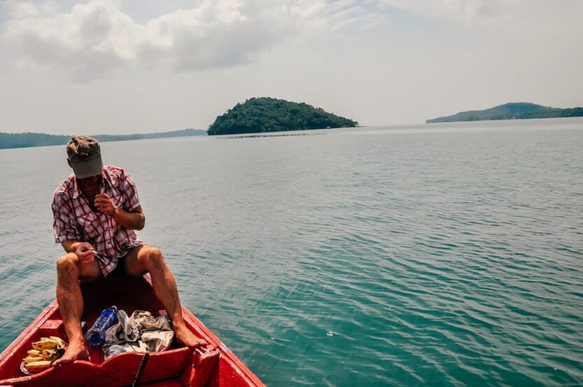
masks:
{"type": "Polygon", "coordinates": [[[206,344],[204,339],[196,337],[186,326],[182,316],[176,280],[166,265],[160,249],[149,245],[133,248],[125,258],[125,271],[133,276],[150,272],[154,293],[172,320],[178,342],[192,349],[206,344]]]}

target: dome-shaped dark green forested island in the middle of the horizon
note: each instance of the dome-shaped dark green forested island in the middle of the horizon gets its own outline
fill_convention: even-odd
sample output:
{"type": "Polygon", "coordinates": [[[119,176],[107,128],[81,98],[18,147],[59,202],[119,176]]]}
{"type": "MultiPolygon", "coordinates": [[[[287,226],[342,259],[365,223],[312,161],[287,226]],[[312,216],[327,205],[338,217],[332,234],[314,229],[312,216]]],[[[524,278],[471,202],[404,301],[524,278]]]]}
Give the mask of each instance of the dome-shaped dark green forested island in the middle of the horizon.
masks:
{"type": "Polygon", "coordinates": [[[287,130],[356,127],[358,122],[308,104],[275,98],[251,98],[219,115],[208,134],[244,134],[287,130]]]}

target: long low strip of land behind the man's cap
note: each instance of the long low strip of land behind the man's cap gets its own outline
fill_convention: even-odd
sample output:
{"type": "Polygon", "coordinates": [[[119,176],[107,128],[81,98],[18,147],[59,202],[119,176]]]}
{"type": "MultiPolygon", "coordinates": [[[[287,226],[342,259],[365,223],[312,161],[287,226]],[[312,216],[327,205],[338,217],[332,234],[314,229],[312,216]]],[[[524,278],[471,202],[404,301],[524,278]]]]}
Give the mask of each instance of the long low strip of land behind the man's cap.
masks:
{"type": "MultiPolygon", "coordinates": [[[[165,137],[202,136],[206,131],[202,129],[182,129],[172,132],[147,134],[95,134],[97,141],[125,141],[143,139],[162,139],[165,137]]],[[[45,133],[2,133],[0,132],[0,149],[28,148],[31,146],[65,145],[71,136],[45,133]]]]}

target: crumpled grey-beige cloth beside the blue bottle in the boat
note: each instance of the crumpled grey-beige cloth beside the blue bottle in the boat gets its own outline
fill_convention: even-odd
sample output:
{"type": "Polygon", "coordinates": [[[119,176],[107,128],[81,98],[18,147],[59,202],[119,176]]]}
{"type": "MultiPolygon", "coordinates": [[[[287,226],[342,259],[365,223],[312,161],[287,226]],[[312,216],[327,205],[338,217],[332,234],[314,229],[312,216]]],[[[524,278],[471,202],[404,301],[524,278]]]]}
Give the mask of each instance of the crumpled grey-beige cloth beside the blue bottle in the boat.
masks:
{"type": "Polygon", "coordinates": [[[131,317],[118,311],[118,323],[105,332],[105,359],[123,352],[160,352],[174,337],[168,316],[154,318],[149,311],[134,311],[131,317]]]}

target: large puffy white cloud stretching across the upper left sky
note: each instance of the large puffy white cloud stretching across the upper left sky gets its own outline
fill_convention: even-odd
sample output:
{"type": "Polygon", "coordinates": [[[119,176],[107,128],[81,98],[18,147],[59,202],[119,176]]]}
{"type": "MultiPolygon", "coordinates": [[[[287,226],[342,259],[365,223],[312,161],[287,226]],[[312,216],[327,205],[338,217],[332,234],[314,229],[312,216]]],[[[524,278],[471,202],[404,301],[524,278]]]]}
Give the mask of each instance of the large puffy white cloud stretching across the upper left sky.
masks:
{"type": "Polygon", "coordinates": [[[19,1],[10,3],[3,37],[20,42],[28,64],[55,66],[85,81],[138,63],[174,71],[234,66],[286,38],[374,17],[350,0],[202,0],[139,23],[115,0],[67,11],[50,1],[19,1]]]}

